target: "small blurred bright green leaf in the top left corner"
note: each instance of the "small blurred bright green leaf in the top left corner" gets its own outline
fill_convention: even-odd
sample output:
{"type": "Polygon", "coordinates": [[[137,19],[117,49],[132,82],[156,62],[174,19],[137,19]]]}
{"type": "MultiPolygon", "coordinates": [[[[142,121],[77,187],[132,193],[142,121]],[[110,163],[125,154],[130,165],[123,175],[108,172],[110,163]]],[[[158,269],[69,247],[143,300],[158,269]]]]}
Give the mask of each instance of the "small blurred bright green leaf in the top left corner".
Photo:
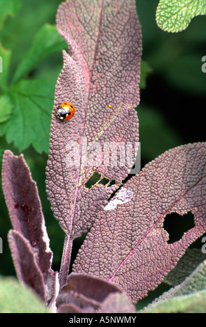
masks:
{"type": "Polygon", "coordinates": [[[7,16],[13,16],[17,13],[20,4],[21,1],[19,0],[0,0],[0,29],[2,29],[7,16]]]}

